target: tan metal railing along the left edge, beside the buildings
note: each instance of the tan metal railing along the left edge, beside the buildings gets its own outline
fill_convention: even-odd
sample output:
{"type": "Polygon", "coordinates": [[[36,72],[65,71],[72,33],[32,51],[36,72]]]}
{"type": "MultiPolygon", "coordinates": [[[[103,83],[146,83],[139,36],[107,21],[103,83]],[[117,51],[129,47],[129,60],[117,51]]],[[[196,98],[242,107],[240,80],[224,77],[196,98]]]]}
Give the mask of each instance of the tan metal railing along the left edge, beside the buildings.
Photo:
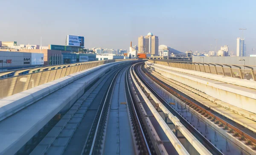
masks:
{"type": "Polygon", "coordinates": [[[28,90],[32,87],[51,82],[53,80],[68,76],[73,73],[77,73],[88,68],[93,68],[99,65],[119,62],[131,59],[114,59],[114,60],[102,60],[93,62],[83,62],[76,64],[65,64],[65,65],[52,65],[52,66],[41,66],[37,68],[26,68],[20,70],[11,70],[0,72],[0,76],[14,73],[11,77],[0,79],[0,99],[7,96],[12,96],[16,93],[20,93],[24,90],[28,90]],[[36,73],[33,73],[37,71],[36,73]],[[24,73],[26,74],[21,74],[24,73]]]}

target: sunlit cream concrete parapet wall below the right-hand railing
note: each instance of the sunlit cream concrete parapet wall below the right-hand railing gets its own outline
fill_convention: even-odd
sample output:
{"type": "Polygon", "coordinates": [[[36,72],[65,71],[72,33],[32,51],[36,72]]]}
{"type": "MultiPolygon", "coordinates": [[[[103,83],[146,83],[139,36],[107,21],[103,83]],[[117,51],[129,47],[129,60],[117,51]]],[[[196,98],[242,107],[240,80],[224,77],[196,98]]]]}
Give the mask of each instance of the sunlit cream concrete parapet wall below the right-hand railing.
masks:
{"type": "MultiPolygon", "coordinates": [[[[164,65],[161,65],[160,67],[160,65],[152,64],[150,62],[145,62],[145,64],[148,67],[150,67],[152,70],[155,70],[158,73],[161,73],[163,76],[166,76],[169,79],[175,80],[184,85],[192,87],[196,90],[206,93],[209,96],[212,96],[216,99],[224,101],[235,107],[239,107],[251,113],[256,113],[256,95],[255,95],[256,90],[255,89],[242,87],[238,85],[232,85],[225,82],[220,82],[213,79],[204,78],[199,75],[195,76],[188,73],[182,73],[176,70],[171,70],[168,68],[168,66],[164,66],[164,65]],[[248,103],[250,104],[248,105],[248,103]]],[[[179,69],[179,68],[176,68],[176,69],[179,69]]],[[[185,69],[182,69],[182,70],[185,70],[185,69]]],[[[198,73],[198,72],[195,72],[195,73],[198,73]]],[[[207,75],[209,73],[203,73],[203,74],[207,75]]],[[[215,76],[217,77],[218,75],[211,75],[211,76],[213,78],[215,76]]],[[[237,80],[240,80],[240,79],[237,79],[237,80]]]]}

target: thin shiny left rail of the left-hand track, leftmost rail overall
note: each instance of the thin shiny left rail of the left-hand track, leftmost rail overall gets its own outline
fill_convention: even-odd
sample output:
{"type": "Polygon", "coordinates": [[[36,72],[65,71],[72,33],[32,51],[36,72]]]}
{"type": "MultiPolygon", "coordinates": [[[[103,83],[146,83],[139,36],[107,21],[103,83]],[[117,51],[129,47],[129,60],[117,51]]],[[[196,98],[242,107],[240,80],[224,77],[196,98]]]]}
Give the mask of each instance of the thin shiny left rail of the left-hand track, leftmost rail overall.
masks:
{"type": "MultiPolygon", "coordinates": [[[[120,70],[121,70],[121,69],[120,69],[120,70]]],[[[116,77],[117,77],[117,75],[119,74],[120,70],[118,70],[118,72],[117,72],[116,75],[114,76],[113,80],[111,81],[110,87],[108,88],[108,93],[107,93],[107,95],[106,95],[105,101],[104,101],[103,106],[102,106],[102,110],[101,110],[101,113],[100,113],[100,116],[99,116],[99,121],[98,121],[98,123],[97,123],[96,131],[95,131],[95,134],[94,134],[94,137],[93,137],[93,143],[92,143],[92,147],[91,147],[91,149],[90,149],[89,155],[92,155],[92,154],[93,154],[93,148],[94,148],[95,141],[96,141],[96,137],[97,137],[97,134],[98,134],[97,132],[98,132],[98,130],[99,130],[100,121],[101,121],[101,119],[102,119],[102,113],[103,113],[103,111],[104,111],[105,104],[106,104],[106,102],[108,101],[108,98],[110,97],[110,96],[109,96],[109,93],[110,93],[111,90],[113,89],[113,83],[114,83],[114,81],[116,81],[116,77]]]]}

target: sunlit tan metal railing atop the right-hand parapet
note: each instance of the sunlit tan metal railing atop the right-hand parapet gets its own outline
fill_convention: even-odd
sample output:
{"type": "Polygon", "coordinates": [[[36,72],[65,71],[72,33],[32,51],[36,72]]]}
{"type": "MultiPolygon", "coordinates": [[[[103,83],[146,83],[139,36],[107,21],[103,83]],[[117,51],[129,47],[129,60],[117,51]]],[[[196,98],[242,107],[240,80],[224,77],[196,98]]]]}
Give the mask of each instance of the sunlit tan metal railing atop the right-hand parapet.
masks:
{"type": "Polygon", "coordinates": [[[204,62],[177,62],[162,60],[148,60],[148,62],[175,68],[195,70],[204,73],[212,73],[217,75],[229,76],[239,79],[250,79],[252,81],[256,81],[256,66],[253,65],[232,65],[204,62]]]}

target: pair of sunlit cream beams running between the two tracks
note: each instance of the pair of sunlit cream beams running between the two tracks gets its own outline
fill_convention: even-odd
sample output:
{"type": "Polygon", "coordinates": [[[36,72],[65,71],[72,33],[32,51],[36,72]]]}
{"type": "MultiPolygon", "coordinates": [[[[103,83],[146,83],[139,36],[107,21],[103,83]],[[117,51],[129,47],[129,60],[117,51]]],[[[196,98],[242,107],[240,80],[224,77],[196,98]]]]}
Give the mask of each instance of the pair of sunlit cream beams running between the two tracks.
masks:
{"type": "MultiPolygon", "coordinates": [[[[198,137],[195,138],[190,133],[191,131],[185,129],[183,124],[181,124],[182,120],[180,120],[176,116],[174,116],[172,114],[172,113],[174,113],[173,111],[172,111],[172,113],[170,113],[171,110],[169,110],[168,108],[166,109],[166,107],[164,105],[164,103],[166,103],[166,101],[164,101],[163,99],[160,100],[161,97],[149,85],[147,85],[145,81],[143,81],[144,79],[140,76],[141,73],[139,73],[137,70],[138,65],[140,65],[140,64],[139,63],[135,64],[133,66],[133,69],[131,70],[131,72],[134,75],[134,80],[137,81],[137,83],[143,89],[143,92],[146,92],[145,94],[147,95],[148,99],[151,99],[150,100],[151,103],[149,103],[148,106],[151,107],[152,111],[154,111],[153,110],[153,108],[154,108],[157,110],[156,112],[160,114],[160,117],[157,116],[157,114],[154,114],[154,116],[157,117],[159,122],[162,122],[162,121],[165,122],[165,123],[161,123],[162,124],[161,127],[163,128],[163,130],[165,130],[165,131],[168,131],[170,129],[172,130],[173,133],[165,132],[165,134],[169,135],[169,141],[171,141],[171,143],[175,147],[177,153],[180,155],[181,154],[193,154],[193,155],[197,155],[197,154],[219,155],[219,154],[222,154],[215,146],[211,145],[210,147],[205,148],[198,141],[198,137]],[[169,124],[174,124],[174,126],[170,126],[169,124]],[[187,141],[189,141],[190,144],[187,143],[186,141],[184,143],[184,141],[183,141],[184,138],[187,141]],[[180,143],[180,142],[182,142],[182,143],[180,143]],[[178,145],[180,145],[180,147],[177,147],[178,145]]],[[[155,113],[155,112],[153,112],[153,113],[155,113]]]]}

